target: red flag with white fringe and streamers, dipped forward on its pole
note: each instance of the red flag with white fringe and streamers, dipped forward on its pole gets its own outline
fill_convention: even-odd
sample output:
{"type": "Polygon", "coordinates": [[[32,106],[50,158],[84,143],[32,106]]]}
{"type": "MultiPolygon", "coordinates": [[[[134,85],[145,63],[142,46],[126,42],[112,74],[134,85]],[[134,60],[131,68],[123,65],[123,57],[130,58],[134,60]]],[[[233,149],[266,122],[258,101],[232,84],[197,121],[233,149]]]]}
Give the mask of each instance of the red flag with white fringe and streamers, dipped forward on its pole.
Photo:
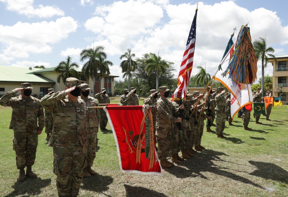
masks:
{"type": "Polygon", "coordinates": [[[162,175],[155,150],[151,108],[105,106],[124,173],[162,175]]]}

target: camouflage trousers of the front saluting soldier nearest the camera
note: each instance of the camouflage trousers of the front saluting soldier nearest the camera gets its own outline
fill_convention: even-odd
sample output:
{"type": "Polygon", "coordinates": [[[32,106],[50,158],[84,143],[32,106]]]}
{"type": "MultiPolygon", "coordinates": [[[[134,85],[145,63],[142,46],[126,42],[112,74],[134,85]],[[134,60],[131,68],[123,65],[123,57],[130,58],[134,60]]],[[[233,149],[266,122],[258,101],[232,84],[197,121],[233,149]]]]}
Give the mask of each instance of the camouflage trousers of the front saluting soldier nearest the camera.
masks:
{"type": "Polygon", "coordinates": [[[58,196],[77,196],[85,163],[84,147],[53,148],[53,173],[57,176],[58,196]]]}

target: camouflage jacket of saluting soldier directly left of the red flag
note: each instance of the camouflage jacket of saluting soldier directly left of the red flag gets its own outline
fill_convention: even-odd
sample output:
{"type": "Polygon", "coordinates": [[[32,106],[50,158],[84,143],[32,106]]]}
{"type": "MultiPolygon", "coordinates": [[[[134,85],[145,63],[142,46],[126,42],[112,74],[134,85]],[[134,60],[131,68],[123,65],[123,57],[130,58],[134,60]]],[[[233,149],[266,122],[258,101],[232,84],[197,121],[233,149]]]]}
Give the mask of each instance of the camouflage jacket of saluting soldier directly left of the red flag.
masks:
{"type": "MultiPolygon", "coordinates": [[[[87,107],[98,107],[99,104],[97,100],[91,96],[88,96],[87,99],[81,98],[86,103],[87,107]]],[[[87,119],[87,128],[98,127],[100,122],[100,109],[88,108],[88,119],[87,119]]]]}

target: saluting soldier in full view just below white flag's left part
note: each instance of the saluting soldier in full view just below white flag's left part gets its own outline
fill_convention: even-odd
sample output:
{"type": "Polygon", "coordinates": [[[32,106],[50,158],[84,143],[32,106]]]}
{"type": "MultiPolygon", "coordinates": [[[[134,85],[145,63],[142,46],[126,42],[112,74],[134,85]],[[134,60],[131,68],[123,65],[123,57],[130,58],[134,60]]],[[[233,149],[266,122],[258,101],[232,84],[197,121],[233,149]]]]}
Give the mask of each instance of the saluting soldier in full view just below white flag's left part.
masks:
{"type": "Polygon", "coordinates": [[[225,120],[226,120],[226,114],[225,114],[225,106],[226,106],[226,98],[224,96],[225,90],[223,87],[218,87],[219,94],[215,97],[216,100],[216,133],[217,138],[226,138],[226,136],[223,136],[223,131],[225,128],[225,120]]]}

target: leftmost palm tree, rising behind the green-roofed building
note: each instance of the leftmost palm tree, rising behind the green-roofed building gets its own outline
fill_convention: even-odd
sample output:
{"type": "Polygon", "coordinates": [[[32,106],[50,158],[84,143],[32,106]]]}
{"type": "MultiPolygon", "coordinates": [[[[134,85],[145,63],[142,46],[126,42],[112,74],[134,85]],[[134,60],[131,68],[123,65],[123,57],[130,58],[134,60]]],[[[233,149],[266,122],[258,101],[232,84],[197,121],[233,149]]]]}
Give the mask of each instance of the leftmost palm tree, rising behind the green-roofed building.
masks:
{"type": "Polygon", "coordinates": [[[66,84],[66,79],[69,77],[69,74],[72,74],[75,78],[79,78],[77,70],[75,68],[79,68],[79,65],[76,62],[71,62],[71,57],[68,55],[66,61],[61,61],[57,67],[54,68],[54,72],[60,72],[57,76],[57,82],[60,83],[62,78],[62,82],[66,84]]]}

